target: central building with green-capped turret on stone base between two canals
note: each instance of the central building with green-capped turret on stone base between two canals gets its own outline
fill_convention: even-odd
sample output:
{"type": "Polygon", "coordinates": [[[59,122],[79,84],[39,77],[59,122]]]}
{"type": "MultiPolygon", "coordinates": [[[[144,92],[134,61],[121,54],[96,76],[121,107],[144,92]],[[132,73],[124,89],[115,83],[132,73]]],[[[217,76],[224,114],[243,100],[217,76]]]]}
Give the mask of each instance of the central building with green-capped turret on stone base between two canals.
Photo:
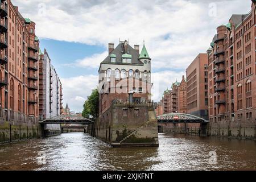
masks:
{"type": "Polygon", "coordinates": [[[112,146],[158,146],[158,128],[151,102],[151,59],[143,46],[120,41],[98,70],[99,117],[94,135],[112,146]]]}

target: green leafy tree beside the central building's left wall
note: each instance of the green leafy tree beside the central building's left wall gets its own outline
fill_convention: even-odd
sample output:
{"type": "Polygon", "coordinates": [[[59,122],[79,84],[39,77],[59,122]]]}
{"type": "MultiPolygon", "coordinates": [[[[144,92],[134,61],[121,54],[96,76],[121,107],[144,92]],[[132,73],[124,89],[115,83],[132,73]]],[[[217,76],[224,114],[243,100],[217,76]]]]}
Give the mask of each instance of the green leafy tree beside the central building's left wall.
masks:
{"type": "Polygon", "coordinates": [[[89,118],[92,115],[93,118],[98,117],[98,89],[93,89],[92,94],[87,97],[84,102],[84,110],[82,111],[82,116],[89,118]]]}

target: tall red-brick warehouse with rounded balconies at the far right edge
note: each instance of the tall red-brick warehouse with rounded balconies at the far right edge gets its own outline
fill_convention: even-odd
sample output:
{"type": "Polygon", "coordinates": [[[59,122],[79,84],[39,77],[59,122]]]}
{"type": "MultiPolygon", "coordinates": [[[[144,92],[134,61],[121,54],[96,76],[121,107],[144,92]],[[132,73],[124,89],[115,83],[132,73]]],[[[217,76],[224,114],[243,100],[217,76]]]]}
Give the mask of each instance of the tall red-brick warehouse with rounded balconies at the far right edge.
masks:
{"type": "Polygon", "coordinates": [[[208,51],[210,134],[255,138],[255,1],[251,12],[232,15],[208,51]]]}

